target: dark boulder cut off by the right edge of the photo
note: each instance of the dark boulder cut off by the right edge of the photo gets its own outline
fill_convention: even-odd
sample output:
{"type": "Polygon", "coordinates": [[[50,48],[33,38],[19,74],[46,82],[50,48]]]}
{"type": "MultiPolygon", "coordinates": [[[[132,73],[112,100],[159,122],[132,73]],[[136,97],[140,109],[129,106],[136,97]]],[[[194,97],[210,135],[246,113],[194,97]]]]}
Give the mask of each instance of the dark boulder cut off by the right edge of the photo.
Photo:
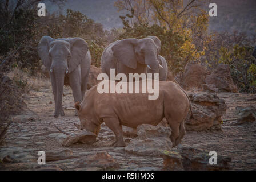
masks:
{"type": "Polygon", "coordinates": [[[235,109],[239,115],[237,119],[238,124],[256,121],[256,107],[236,107],[235,109]]]}

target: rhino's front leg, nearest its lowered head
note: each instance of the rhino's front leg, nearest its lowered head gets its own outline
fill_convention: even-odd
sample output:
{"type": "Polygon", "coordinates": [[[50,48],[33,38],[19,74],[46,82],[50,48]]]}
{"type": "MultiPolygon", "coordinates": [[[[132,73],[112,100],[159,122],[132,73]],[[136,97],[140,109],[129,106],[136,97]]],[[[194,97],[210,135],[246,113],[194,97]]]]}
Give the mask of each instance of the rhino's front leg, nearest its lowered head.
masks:
{"type": "Polygon", "coordinates": [[[112,130],[115,134],[115,137],[117,139],[116,147],[125,147],[126,144],[123,141],[123,131],[122,127],[118,121],[117,118],[103,118],[103,121],[105,122],[106,126],[109,127],[110,130],[112,130]]]}

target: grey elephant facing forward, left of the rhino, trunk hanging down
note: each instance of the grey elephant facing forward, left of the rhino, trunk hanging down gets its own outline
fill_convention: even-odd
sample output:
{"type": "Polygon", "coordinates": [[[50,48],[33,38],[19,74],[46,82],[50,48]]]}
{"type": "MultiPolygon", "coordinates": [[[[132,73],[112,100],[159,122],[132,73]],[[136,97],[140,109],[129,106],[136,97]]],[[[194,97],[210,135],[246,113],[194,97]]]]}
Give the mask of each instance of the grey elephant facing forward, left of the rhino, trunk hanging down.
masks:
{"type": "Polygon", "coordinates": [[[82,38],[53,39],[43,36],[38,54],[50,72],[55,102],[54,117],[57,118],[59,114],[65,115],[62,107],[64,85],[71,87],[75,102],[82,101],[90,72],[90,51],[82,38]]]}

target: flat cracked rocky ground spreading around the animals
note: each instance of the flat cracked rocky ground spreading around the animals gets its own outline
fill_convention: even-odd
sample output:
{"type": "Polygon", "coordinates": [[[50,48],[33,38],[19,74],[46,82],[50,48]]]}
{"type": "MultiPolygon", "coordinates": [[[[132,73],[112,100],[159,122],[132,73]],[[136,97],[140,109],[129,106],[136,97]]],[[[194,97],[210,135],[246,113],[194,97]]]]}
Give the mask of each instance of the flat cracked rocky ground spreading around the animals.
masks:
{"type": "MultiPolygon", "coordinates": [[[[255,106],[255,94],[218,93],[227,104],[226,114],[222,117],[222,130],[188,131],[182,144],[194,148],[216,151],[218,155],[231,157],[231,170],[256,169],[256,122],[237,125],[237,106],[255,106]],[[252,100],[254,98],[254,100],[252,100]]],[[[73,123],[79,123],[74,116],[74,102],[71,89],[65,87],[63,107],[65,116],[53,117],[54,101],[50,86],[26,95],[26,104],[31,111],[14,118],[0,146],[0,169],[27,170],[161,170],[161,156],[136,155],[126,152],[125,148],[115,148],[112,143],[114,134],[104,125],[93,145],[74,144],[63,147],[66,138],[54,125],[62,130],[77,130],[73,123]],[[35,114],[36,113],[36,114],[35,114]],[[39,165],[38,151],[46,152],[46,165],[39,165]]],[[[128,143],[132,138],[125,137],[128,143]]]]}

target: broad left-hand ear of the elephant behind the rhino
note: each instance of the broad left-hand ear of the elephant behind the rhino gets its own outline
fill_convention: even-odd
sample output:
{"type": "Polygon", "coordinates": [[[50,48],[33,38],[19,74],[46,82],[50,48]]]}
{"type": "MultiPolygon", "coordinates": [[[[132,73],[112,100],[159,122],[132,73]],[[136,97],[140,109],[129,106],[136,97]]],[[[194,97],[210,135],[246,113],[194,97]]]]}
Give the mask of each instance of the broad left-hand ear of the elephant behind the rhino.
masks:
{"type": "Polygon", "coordinates": [[[137,46],[138,39],[123,39],[112,47],[113,55],[129,68],[137,68],[137,60],[134,46],[137,46]]]}

